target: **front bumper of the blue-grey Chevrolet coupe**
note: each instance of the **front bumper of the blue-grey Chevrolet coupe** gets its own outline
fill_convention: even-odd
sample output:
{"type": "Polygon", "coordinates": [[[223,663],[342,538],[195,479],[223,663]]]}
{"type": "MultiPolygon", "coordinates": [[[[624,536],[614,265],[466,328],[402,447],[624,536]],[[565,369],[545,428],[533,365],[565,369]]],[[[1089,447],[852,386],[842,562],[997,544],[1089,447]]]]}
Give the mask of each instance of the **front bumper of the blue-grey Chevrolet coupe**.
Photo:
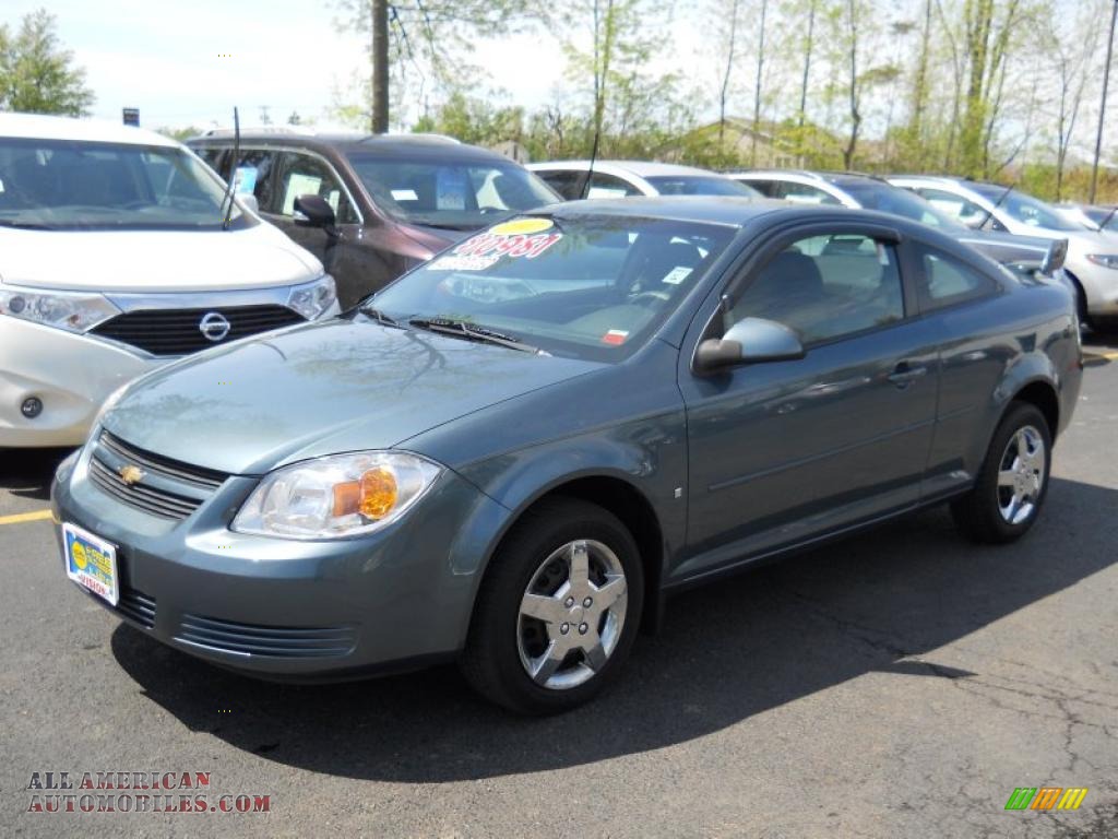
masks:
{"type": "Polygon", "coordinates": [[[91,450],[64,462],[51,488],[56,520],[117,547],[121,603],[88,596],[183,652],[281,680],[353,678],[453,656],[508,512],[448,471],[404,518],[367,537],[249,536],[228,522],[256,478],[230,477],[186,519],[168,521],[93,483],[91,450]]]}

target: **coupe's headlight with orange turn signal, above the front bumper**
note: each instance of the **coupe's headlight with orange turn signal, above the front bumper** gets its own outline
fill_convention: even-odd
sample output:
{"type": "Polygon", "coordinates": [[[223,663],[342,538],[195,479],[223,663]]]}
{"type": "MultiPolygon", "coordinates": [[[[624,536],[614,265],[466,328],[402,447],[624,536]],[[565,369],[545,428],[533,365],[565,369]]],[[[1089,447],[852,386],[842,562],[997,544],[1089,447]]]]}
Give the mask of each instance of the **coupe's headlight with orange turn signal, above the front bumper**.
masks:
{"type": "Polygon", "coordinates": [[[442,466],[406,452],[358,452],[271,472],[230,528],[288,539],[333,539],[372,532],[418,501],[442,466]]]}

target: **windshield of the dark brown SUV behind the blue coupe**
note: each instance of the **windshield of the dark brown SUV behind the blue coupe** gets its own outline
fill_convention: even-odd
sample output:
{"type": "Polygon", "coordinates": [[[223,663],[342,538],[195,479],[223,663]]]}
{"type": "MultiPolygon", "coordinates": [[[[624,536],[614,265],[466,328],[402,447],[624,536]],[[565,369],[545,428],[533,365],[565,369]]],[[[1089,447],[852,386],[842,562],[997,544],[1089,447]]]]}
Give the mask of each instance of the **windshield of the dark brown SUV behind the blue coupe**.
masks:
{"type": "Polygon", "coordinates": [[[476,230],[561,200],[515,163],[350,154],[377,205],[394,218],[427,227],[476,230]]]}

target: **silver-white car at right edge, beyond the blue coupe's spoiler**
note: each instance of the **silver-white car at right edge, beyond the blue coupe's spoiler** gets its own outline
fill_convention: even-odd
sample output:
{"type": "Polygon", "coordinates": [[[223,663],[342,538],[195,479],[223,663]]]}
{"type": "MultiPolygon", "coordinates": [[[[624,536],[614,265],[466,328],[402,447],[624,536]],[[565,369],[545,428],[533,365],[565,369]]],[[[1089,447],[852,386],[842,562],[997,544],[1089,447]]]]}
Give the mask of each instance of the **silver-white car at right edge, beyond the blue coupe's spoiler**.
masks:
{"type": "Polygon", "coordinates": [[[925,175],[889,178],[969,227],[1068,239],[1064,272],[1076,284],[1079,317],[1097,328],[1118,324],[1118,239],[1088,230],[1057,209],[1011,187],[925,175]]]}

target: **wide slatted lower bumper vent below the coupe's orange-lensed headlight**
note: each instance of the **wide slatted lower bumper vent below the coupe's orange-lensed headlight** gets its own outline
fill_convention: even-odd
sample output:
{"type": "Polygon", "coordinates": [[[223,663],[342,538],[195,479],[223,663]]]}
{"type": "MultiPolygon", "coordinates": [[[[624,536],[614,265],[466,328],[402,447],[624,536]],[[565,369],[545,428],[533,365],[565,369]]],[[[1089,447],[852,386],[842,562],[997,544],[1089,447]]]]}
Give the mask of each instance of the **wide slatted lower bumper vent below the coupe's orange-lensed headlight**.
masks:
{"type": "Polygon", "coordinates": [[[218,652],[269,658],[345,656],[357,644],[352,626],[254,626],[184,614],[177,640],[218,652]]]}

